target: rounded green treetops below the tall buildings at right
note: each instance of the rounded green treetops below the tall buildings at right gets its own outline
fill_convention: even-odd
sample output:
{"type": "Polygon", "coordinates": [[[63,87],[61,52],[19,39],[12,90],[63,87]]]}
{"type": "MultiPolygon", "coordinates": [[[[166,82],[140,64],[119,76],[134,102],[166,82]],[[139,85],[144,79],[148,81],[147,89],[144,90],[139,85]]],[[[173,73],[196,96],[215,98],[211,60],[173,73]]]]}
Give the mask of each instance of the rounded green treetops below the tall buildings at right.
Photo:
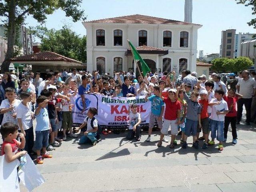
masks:
{"type": "Polygon", "coordinates": [[[215,72],[238,72],[250,68],[253,65],[248,57],[238,58],[215,58],[211,62],[211,70],[215,72]]]}

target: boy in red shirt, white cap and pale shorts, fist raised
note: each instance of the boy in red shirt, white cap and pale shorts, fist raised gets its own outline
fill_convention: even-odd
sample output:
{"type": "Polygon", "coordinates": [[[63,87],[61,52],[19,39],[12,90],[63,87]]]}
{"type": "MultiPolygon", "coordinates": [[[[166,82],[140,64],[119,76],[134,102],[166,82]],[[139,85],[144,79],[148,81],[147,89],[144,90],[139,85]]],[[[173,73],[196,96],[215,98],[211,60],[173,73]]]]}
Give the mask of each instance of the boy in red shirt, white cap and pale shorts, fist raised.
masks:
{"type": "Polygon", "coordinates": [[[174,148],[175,137],[178,134],[178,126],[180,124],[180,110],[181,104],[175,99],[176,90],[168,90],[168,98],[162,97],[163,88],[160,89],[159,97],[164,101],[166,107],[164,112],[164,124],[161,130],[160,140],[157,144],[158,147],[162,146],[164,135],[168,134],[168,129],[171,126],[171,144],[170,148],[174,148]]]}

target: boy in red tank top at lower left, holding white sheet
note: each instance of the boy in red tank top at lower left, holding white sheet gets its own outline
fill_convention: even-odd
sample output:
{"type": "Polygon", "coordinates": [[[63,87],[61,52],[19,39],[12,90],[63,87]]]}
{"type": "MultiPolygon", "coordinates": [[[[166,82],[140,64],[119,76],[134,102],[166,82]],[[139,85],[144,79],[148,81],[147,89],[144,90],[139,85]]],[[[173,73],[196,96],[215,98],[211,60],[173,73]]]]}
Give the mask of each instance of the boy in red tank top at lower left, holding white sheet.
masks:
{"type": "Polygon", "coordinates": [[[24,134],[18,133],[18,125],[7,122],[1,126],[0,133],[4,138],[1,155],[5,154],[8,163],[27,153],[26,151],[19,152],[19,148],[23,149],[25,147],[26,140],[24,134]],[[21,142],[16,140],[18,136],[21,142]]]}

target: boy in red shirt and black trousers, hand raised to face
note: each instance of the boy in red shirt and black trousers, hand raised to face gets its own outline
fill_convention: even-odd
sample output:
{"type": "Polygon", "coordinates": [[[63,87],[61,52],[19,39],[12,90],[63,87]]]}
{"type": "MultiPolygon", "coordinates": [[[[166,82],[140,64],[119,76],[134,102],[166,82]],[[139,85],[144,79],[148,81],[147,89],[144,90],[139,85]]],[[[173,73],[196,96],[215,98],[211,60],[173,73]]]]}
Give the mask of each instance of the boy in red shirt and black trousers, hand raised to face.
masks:
{"type": "Polygon", "coordinates": [[[236,102],[238,99],[242,98],[243,96],[236,93],[234,89],[228,90],[228,96],[224,95],[223,99],[228,104],[228,114],[225,116],[224,120],[224,141],[227,140],[228,134],[228,126],[231,123],[232,128],[232,143],[237,144],[237,134],[236,134],[236,102]]]}

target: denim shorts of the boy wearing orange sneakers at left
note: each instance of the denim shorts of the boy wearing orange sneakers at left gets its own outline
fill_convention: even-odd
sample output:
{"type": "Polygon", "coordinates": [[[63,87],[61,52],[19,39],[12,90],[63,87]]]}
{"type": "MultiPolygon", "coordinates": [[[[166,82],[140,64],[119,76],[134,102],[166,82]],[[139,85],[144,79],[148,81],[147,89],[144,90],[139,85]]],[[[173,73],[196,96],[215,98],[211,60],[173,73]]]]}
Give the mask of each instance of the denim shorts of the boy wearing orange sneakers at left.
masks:
{"type": "Polygon", "coordinates": [[[48,146],[50,130],[36,131],[36,140],[34,142],[34,150],[41,150],[48,146]]]}

